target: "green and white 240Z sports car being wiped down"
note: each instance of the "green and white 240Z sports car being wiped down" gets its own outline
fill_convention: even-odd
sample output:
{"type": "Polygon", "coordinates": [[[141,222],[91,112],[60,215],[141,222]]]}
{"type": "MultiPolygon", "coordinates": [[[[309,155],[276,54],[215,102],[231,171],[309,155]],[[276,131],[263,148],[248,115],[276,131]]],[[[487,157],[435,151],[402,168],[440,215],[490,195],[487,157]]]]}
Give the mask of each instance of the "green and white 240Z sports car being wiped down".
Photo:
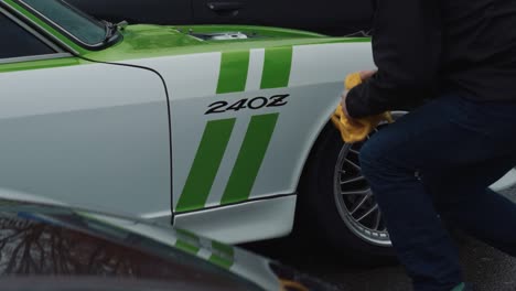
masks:
{"type": "Polygon", "coordinates": [[[374,67],[367,39],[111,24],[62,0],[0,0],[0,28],[1,187],[225,242],[297,218],[364,261],[390,254],[361,144],[329,122],[345,75],[374,67]]]}

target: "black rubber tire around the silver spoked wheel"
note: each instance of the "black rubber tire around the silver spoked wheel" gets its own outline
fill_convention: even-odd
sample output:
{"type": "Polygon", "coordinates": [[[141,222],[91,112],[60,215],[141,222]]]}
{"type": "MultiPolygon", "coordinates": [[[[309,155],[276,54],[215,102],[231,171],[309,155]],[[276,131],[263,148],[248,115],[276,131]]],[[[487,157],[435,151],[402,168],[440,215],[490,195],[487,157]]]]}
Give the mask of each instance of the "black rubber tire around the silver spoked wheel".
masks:
{"type": "Polygon", "coordinates": [[[385,266],[396,261],[390,246],[367,242],[344,223],[335,201],[335,168],[345,144],[329,125],[321,133],[304,168],[299,186],[295,233],[310,236],[331,256],[361,266],[385,266]]]}

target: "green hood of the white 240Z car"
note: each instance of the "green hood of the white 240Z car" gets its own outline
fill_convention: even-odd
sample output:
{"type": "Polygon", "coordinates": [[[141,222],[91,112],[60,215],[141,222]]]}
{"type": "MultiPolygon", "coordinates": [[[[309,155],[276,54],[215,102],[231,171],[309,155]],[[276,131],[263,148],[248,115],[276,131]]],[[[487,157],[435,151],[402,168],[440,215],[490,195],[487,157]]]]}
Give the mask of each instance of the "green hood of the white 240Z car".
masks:
{"type": "Polygon", "coordinates": [[[97,62],[115,62],[226,50],[251,50],[332,42],[354,42],[357,37],[329,37],[322,34],[251,25],[128,25],[123,37],[111,47],[84,56],[97,62]]]}

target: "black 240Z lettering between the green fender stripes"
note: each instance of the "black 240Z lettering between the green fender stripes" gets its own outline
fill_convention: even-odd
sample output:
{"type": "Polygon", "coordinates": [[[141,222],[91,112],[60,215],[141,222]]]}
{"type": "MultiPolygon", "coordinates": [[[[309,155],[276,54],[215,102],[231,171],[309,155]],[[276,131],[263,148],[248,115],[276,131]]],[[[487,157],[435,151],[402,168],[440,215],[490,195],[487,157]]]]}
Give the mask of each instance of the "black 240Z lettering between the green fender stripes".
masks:
{"type": "Polygon", "coordinates": [[[214,115],[214,114],[224,114],[226,111],[239,111],[241,109],[251,109],[258,110],[265,107],[282,107],[286,106],[289,100],[290,94],[283,95],[275,95],[272,97],[255,97],[252,99],[240,99],[233,105],[229,105],[227,101],[216,101],[208,106],[208,110],[205,115],[214,115]]]}

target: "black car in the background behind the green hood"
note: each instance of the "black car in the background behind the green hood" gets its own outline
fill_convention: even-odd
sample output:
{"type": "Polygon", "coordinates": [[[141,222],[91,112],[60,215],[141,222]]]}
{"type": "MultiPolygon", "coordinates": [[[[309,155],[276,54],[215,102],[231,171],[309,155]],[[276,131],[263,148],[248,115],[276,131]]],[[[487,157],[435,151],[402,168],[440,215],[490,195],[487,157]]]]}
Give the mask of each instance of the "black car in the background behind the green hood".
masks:
{"type": "Polygon", "coordinates": [[[252,24],[346,35],[367,31],[372,0],[66,0],[98,19],[155,24],[252,24]]]}

